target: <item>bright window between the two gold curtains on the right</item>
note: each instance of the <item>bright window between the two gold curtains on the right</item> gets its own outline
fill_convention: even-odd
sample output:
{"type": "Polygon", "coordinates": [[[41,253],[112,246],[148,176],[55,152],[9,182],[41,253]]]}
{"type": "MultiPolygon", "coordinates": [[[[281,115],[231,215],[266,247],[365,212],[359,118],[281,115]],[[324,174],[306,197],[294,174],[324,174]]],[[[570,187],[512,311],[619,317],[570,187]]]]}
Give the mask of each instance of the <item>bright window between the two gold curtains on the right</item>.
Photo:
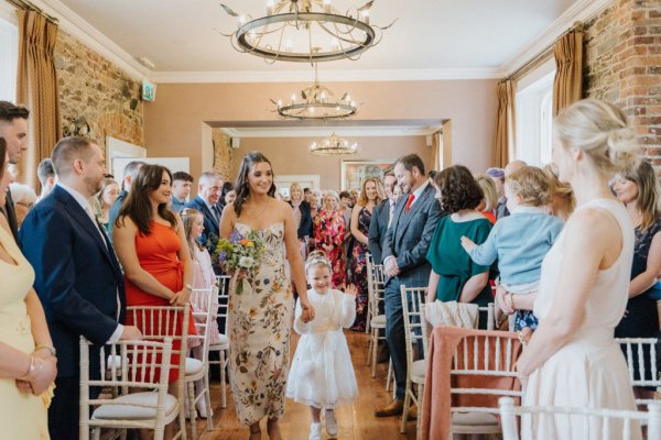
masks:
{"type": "Polygon", "coordinates": [[[551,58],[517,82],[514,157],[529,165],[551,162],[554,78],[551,58]]]}

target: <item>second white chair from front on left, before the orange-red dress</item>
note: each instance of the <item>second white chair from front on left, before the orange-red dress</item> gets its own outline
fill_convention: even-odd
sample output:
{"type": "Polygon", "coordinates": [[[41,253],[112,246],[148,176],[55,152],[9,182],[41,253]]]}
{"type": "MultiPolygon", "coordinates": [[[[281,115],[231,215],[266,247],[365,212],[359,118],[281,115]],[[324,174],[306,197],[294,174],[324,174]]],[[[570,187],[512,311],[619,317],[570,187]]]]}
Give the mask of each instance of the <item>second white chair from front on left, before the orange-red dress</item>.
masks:
{"type": "Polygon", "coordinates": [[[176,395],[180,406],[178,424],[182,439],[186,439],[186,414],[184,393],[186,356],[188,354],[188,323],[191,305],[183,306],[131,306],[127,307],[127,322],[132,322],[148,341],[163,341],[172,338],[172,362],[170,370],[176,370],[176,395]]]}

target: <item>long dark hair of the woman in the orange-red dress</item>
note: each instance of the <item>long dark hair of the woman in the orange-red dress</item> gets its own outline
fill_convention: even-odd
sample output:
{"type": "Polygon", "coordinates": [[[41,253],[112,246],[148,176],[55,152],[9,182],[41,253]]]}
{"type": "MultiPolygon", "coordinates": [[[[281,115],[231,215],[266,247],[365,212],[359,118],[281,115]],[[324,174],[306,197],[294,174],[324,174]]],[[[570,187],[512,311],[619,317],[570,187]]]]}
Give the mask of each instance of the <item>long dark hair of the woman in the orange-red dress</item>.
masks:
{"type": "MultiPolygon", "coordinates": [[[[133,223],[136,223],[141,234],[150,234],[151,231],[149,226],[154,219],[154,213],[152,212],[149,195],[161,186],[163,172],[167,173],[170,182],[172,182],[172,173],[164,166],[143,165],[142,168],[140,168],[138,176],[136,176],[131,184],[131,191],[121,206],[117,220],[115,220],[116,227],[122,227],[123,219],[128,217],[133,220],[133,223]]],[[[167,209],[167,204],[159,205],[159,216],[165,219],[173,229],[176,228],[176,217],[167,209]]]]}

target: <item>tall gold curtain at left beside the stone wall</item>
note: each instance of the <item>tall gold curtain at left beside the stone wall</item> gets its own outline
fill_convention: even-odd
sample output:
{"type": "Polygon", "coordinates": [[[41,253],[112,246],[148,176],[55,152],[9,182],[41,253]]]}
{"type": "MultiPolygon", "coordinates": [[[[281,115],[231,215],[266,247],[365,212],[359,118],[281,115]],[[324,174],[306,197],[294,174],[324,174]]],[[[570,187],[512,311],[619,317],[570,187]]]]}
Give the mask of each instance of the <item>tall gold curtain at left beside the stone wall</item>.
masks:
{"type": "Polygon", "coordinates": [[[17,12],[20,38],[17,103],[30,110],[28,151],[19,164],[19,178],[37,188],[36,165],[43,158],[51,157],[55,143],[62,136],[59,94],[53,56],[57,24],[34,11],[17,12]]]}

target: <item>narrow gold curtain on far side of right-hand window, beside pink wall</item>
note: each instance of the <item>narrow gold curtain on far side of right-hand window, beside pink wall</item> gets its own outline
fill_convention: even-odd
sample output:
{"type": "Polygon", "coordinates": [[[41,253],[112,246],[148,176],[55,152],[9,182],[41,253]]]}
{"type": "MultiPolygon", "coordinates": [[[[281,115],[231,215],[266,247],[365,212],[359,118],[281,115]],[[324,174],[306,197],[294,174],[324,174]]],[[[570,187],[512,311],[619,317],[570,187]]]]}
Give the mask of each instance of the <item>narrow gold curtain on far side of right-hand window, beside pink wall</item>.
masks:
{"type": "Polygon", "coordinates": [[[498,82],[498,113],[496,116],[496,145],[494,165],[505,167],[514,139],[514,84],[507,79],[498,82]]]}

